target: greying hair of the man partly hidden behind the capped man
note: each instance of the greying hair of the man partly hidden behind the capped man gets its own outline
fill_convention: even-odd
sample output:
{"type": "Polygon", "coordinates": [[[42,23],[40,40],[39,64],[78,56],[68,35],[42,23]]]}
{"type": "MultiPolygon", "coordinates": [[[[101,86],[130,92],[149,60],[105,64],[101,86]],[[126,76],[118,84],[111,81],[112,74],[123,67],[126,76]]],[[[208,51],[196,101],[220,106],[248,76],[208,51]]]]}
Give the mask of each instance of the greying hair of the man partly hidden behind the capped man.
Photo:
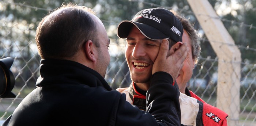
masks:
{"type": "MultiPolygon", "coordinates": [[[[173,12],[173,10],[171,10],[173,12]]],[[[197,32],[191,22],[189,22],[188,19],[181,17],[180,15],[177,15],[175,12],[173,14],[181,21],[181,24],[183,28],[187,31],[189,38],[191,40],[191,46],[192,46],[192,57],[195,61],[195,64],[198,62],[198,58],[201,53],[201,46],[199,45],[198,39],[199,36],[197,35],[197,32]]]]}

